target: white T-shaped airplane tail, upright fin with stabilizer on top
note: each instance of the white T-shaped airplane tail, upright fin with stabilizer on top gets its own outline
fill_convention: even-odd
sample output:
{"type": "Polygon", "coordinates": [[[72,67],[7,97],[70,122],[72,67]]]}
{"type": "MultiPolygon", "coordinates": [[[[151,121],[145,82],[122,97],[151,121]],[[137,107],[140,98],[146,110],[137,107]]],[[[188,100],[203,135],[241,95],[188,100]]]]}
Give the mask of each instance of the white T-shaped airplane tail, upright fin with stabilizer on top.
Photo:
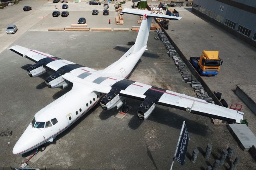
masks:
{"type": "Polygon", "coordinates": [[[152,22],[152,18],[167,18],[170,20],[180,20],[181,17],[175,17],[175,16],[168,16],[168,15],[160,15],[160,14],[151,14],[151,11],[146,10],[134,10],[129,8],[124,8],[121,14],[133,14],[138,16],[143,16],[142,23],[140,25],[140,30],[138,32],[138,36],[136,38],[135,44],[134,44],[134,53],[140,51],[140,49],[147,45],[148,42],[148,34],[150,32],[150,26],[152,22]]]}

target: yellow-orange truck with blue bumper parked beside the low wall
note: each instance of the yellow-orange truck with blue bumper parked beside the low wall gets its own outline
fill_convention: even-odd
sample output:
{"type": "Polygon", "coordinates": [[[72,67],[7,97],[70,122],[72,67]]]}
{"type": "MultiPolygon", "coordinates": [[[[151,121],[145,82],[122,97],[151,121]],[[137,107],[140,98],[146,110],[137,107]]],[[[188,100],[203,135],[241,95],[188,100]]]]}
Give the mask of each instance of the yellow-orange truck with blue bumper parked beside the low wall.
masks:
{"type": "Polygon", "coordinates": [[[223,63],[219,51],[202,51],[202,53],[201,57],[190,57],[190,63],[201,75],[217,75],[223,63]]]}

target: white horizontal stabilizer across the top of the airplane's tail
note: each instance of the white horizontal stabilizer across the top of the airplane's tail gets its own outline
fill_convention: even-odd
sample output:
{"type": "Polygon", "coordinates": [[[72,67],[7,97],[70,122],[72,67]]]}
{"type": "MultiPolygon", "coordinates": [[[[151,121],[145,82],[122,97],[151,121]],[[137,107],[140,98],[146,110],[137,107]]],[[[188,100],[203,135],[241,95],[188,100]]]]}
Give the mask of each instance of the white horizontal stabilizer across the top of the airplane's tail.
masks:
{"type": "Polygon", "coordinates": [[[180,20],[182,18],[182,17],[168,16],[168,15],[161,15],[161,14],[151,14],[151,11],[135,10],[130,8],[124,8],[124,10],[120,13],[133,14],[138,16],[144,16],[146,14],[147,17],[166,18],[170,20],[180,20]]]}

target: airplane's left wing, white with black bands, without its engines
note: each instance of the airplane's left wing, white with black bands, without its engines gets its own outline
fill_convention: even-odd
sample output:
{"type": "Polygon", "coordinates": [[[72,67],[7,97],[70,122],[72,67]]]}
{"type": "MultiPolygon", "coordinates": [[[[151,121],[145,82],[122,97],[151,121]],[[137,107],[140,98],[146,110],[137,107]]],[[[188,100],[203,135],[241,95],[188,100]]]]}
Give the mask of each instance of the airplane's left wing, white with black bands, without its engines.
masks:
{"type": "MultiPolygon", "coordinates": [[[[48,53],[43,53],[34,49],[28,49],[26,47],[22,47],[20,45],[13,45],[9,48],[11,51],[17,53],[18,55],[25,57],[27,59],[30,59],[31,61],[34,61],[35,63],[40,63],[44,67],[51,69],[53,71],[58,71],[60,68],[64,68],[64,66],[72,66],[72,68],[79,68],[84,67],[82,65],[73,63],[71,61],[61,59],[59,57],[55,57],[53,55],[50,55],[48,53]]],[[[89,69],[90,71],[96,71],[94,69],[90,69],[86,67],[86,69],[89,69]]],[[[71,70],[69,70],[71,71],[71,70]]]]}

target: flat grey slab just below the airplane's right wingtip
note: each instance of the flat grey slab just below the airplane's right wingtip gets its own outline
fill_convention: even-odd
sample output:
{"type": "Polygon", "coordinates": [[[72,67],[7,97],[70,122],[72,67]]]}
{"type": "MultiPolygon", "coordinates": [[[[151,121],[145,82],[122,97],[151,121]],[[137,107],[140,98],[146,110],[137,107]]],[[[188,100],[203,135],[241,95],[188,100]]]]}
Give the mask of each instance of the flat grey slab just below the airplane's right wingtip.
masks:
{"type": "Polygon", "coordinates": [[[256,145],[256,136],[245,124],[230,124],[228,129],[242,150],[248,151],[253,145],[256,145]]]}

